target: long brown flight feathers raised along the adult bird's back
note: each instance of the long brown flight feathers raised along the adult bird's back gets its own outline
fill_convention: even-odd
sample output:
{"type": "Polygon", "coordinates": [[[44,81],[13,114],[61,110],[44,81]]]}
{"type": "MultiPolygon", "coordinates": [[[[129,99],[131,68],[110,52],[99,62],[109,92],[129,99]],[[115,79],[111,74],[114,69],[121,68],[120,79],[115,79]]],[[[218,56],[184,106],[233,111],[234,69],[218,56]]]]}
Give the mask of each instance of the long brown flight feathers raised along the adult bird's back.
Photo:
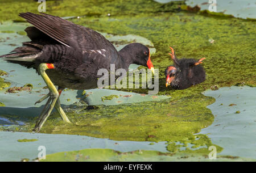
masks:
{"type": "Polygon", "coordinates": [[[108,47],[112,51],[116,51],[113,44],[100,33],[61,19],[58,16],[44,13],[39,15],[31,12],[23,12],[19,16],[67,47],[80,50],[104,49],[108,47]]]}

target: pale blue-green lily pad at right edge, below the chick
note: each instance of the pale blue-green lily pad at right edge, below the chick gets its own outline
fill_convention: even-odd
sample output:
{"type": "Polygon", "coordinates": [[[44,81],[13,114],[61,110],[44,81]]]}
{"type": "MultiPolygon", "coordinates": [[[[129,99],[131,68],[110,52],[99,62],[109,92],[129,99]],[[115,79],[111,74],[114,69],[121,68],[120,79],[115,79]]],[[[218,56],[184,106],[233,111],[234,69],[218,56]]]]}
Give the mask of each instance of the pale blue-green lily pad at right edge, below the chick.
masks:
{"type": "Polygon", "coordinates": [[[214,115],[213,124],[200,133],[208,134],[213,144],[224,148],[220,155],[256,159],[256,88],[223,87],[203,94],[216,102],[207,107],[214,115]]]}

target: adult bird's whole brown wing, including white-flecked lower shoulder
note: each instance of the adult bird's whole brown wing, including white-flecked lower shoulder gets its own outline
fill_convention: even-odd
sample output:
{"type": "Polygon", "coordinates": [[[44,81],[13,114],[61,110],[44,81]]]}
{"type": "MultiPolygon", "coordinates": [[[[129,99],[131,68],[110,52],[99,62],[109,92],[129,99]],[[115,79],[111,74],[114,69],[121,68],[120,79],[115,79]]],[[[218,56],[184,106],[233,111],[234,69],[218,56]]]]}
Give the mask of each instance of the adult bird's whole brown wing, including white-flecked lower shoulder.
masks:
{"type": "MultiPolygon", "coordinates": [[[[110,63],[115,64],[119,61],[117,50],[113,44],[93,29],[44,13],[39,15],[24,12],[19,16],[54,40],[75,50],[76,58],[84,64],[96,64],[98,67],[102,66],[108,69],[110,63]]],[[[31,34],[31,32],[29,33],[31,34]]]]}

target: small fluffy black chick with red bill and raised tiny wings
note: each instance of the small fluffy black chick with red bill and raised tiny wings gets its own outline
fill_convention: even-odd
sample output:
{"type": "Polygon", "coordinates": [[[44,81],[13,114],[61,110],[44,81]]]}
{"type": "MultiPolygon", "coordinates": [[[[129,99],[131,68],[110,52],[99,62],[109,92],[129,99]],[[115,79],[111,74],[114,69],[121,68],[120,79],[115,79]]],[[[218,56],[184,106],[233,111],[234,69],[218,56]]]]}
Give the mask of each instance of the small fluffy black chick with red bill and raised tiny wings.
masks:
{"type": "Polygon", "coordinates": [[[171,50],[172,53],[169,54],[174,65],[166,68],[166,87],[171,85],[176,90],[183,90],[205,81],[205,71],[200,65],[205,58],[200,60],[182,58],[178,60],[174,49],[171,48],[171,50]]]}

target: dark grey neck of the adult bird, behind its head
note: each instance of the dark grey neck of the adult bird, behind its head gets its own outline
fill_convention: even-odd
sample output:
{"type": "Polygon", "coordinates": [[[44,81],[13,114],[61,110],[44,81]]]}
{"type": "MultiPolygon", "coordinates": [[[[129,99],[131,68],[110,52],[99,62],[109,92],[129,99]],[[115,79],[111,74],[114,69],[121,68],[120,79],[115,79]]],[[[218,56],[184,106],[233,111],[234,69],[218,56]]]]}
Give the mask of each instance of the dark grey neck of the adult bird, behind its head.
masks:
{"type": "Polygon", "coordinates": [[[134,63],[133,56],[131,55],[131,52],[129,49],[123,48],[119,50],[118,52],[119,57],[121,59],[119,66],[123,69],[128,69],[130,64],[134,63]]]}

